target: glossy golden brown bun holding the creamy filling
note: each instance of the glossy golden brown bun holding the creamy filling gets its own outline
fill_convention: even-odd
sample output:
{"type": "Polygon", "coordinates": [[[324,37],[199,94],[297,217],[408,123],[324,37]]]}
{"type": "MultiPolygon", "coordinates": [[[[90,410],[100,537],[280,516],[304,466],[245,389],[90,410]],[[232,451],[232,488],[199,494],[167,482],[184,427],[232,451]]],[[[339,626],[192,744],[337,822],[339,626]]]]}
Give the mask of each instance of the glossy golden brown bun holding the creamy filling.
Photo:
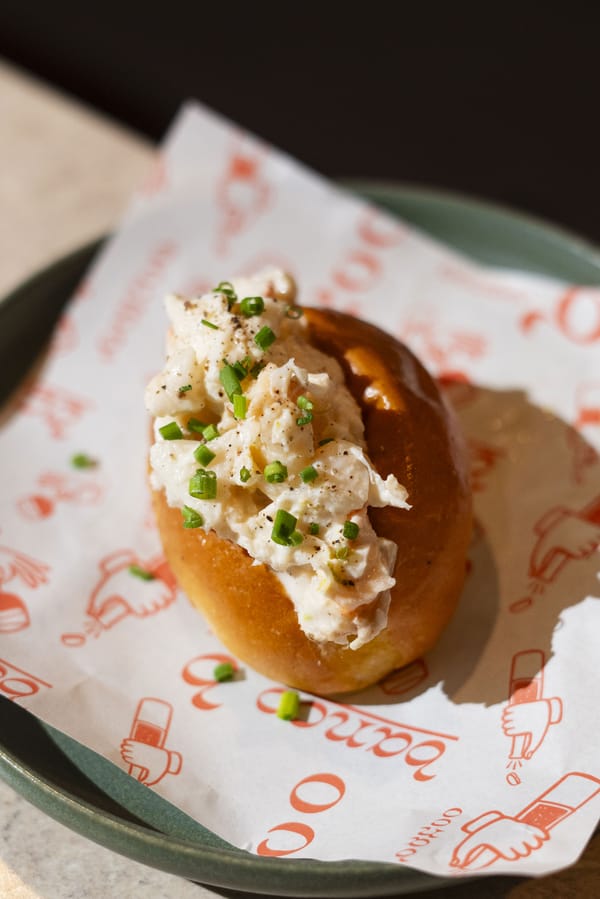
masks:
{"type": "Polygon", "coordinates": [[[311,341],[344,368],[372,462],[384,477],[396,475],[412,505],[369,512],[377,534],[398,546],[386,629],[357,650],[310,640],[267,566],[253,565],[245,550],[214,532],[184,529],[163,492],[153,502],[176,578],[233,655],[276,681],[333,694],[375,683],[436,642],[464,581],[471,499],[457,426],[412,353],[343,313],[307,308],[305,315],[311,341]]]}

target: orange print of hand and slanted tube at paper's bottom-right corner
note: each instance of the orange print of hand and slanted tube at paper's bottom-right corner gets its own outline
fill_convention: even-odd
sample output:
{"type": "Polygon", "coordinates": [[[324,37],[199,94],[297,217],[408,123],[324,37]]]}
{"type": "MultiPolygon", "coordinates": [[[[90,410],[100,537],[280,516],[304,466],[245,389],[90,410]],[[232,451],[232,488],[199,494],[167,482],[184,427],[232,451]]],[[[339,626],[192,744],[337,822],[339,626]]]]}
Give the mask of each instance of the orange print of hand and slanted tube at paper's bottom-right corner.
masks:
{"type": "Polygon", "coordinates": [[[463,824],[467,836],[456,846],[450,865],[463,871],[489,868],[499,860],[527,858],[551,837],[550,831],[600,793],[591,774],[565,774],[515,817],[489,811],[463,824]]]}

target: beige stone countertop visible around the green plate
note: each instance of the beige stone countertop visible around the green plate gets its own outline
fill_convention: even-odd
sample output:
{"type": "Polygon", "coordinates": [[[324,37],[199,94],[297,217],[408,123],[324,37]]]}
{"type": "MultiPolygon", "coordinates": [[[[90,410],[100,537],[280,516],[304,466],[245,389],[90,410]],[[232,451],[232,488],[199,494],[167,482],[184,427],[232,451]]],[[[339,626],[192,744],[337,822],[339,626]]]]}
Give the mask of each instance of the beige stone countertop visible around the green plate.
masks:
{"type": "MultiPolygon", "coordinates": [[[[0,296],[115,227],[153,149],[139,135],[0,60],[0,296]]],[[[2,899],[203,899],[217,895],[133,862],[53,821],[0,781],[2,899]]],[[[231,895],[231,894],[230,894],[231,895]]],[[[238,894],[241,895],[241,894],[238,894]]],[[[600,895],[600,835],[573,868],[428,893],[478,899],[600,895]]]]}

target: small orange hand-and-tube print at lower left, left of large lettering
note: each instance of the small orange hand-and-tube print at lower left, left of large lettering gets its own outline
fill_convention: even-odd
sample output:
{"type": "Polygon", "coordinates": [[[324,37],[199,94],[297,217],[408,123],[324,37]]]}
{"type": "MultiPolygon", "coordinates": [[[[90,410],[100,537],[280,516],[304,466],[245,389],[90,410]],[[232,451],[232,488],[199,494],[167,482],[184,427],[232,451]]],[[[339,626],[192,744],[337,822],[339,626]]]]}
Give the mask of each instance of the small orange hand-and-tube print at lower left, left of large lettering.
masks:
{"type": "Polygon", "coordinates": [[[140,699],[129,736],[121,743],[121,758],[129,765],[129,774],[147,787],[181,771],[181,754],[165,746],[172,717],[170,703],[140,699]]]}

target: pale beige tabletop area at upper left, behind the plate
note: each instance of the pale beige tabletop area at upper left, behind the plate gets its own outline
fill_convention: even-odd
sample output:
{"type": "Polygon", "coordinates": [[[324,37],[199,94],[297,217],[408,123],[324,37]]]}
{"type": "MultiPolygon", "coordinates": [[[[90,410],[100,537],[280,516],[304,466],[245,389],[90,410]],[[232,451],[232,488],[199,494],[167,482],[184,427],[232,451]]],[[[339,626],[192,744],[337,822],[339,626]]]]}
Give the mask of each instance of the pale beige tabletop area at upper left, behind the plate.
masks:
{"type": "Polygon", "coordinates": [[[0,60],[0,295],[114,227],[150,145],[0,60]]]}

